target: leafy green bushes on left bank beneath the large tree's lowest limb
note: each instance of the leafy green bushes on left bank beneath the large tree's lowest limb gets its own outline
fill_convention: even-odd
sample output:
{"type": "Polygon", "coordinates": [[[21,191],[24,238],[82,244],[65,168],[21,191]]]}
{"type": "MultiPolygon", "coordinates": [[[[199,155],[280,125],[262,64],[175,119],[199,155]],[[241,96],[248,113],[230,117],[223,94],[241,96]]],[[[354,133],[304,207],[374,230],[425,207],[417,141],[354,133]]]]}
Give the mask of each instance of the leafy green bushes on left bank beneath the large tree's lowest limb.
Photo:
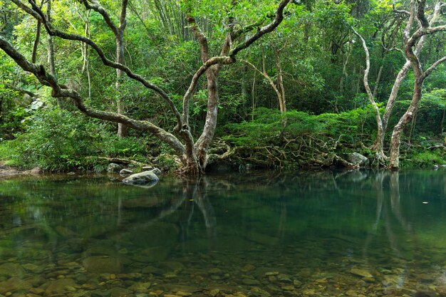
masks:
{"type": "Polygon", "coordinates": [[[45,109],[33,115],[30,122],[25,134],[0,142],[0,159],[18,167],[41,167],[48,171],[91,169],[98,166],[95,156],[144,161],[144,138],[110,135],[105,124],[79,113],[45,109]]]}

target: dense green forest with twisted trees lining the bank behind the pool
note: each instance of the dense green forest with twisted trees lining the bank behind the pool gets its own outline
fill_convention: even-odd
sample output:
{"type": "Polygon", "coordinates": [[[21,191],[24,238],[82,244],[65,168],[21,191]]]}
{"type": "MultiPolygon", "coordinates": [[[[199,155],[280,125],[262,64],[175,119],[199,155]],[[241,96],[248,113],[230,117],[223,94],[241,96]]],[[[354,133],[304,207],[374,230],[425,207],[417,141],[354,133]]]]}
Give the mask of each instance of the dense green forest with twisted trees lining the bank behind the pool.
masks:
{"type": "Polygon", "coordinates": [[[446,3],[0,0],[0,162],[446,164],[446,3]]]}

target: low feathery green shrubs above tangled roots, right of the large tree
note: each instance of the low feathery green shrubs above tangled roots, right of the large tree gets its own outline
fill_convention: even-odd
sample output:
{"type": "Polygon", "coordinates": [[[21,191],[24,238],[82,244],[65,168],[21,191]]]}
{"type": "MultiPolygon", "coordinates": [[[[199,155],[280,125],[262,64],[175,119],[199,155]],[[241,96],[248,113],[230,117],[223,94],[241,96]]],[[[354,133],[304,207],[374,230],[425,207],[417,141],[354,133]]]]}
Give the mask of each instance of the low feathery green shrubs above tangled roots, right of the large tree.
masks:
{"type": "Polygon", "coordinates": [[[340,139],[350,145],[367,140],[373,131],[373,110],[368,105],[345,113],[308,113],[291,110],[281,115],[279,110],[257,108],[251,122],[230,123],[224,127],[229,135],[224,139],[237,146],[264,146],[278,144],[279,135],[292,139],[305,135],[326,140],[340,139]],[[286,127],[282,123],[286,118],[286,127]]]}

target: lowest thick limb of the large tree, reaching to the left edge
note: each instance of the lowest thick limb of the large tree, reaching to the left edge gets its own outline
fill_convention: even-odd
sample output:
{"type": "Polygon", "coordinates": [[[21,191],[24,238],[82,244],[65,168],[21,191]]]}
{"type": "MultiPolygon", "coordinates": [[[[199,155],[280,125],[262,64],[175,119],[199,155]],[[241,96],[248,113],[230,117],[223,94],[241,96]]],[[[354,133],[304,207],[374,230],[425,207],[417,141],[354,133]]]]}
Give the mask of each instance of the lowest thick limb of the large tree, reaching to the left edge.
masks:
{"type": "Polygon", "coordinates": [[[182,145],[180,140],[177,139],[170,132],[163,130],[156,125],[146,121],[146,120],[134,120],[125,115],[120,115],[118,113],[110,113],[103,110],[96,110],[94,108],[90,108],[84,104],[84,100],[82,96],[76,92],[76,90],[72,90],[66,88],[63,85],[60,85],[56,78],[53,75],[47,73],[45,68],[41,65],[33,64],[29,62],[19,51],[17,51],[11,43],[6,41],[3,36],[0,36],[0,48],[14,61],[19,65],[24,71],[29,73],[33,73],[36,78],[43,84],[51,87],[52,93],[51,95],[55,98],[72,98],[78,110],[85,115],[90,116],[91,118],[98,118],[100,120],[108,120],[110,122],[115,123],[123,123],[128,127],[133,127],[136,130],[142,130],[150,132],[152,135],[157,137],[158,139],[166,142],[173,150],[175,150],[176,154],[179,157],[182,157],[185,153],[185,147],[182,145]]]}

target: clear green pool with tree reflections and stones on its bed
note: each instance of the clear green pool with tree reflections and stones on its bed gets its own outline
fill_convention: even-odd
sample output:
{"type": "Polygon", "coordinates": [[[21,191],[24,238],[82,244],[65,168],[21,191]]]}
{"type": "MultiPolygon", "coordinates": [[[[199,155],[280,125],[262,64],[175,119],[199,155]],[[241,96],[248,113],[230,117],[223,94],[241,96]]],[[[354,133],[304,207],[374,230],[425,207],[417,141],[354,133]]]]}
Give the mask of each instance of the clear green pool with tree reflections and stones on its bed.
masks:
{"type": "Polygon", "coordinates": [[[446,296],[446,171],[0,179],[0,296],[446,296]]]}

